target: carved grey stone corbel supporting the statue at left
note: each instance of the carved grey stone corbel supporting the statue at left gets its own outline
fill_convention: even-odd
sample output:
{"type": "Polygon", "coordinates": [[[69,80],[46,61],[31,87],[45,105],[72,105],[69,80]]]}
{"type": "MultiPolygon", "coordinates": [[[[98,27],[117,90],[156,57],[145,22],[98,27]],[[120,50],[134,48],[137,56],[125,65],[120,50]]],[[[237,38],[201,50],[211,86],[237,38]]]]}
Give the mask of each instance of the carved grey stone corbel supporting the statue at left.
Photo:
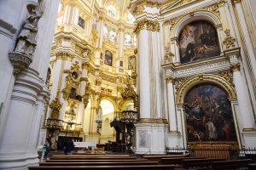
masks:
{"type": "Polygon", "coordinates": [[[14,75],[18,75],[20,71],[24,71],[32,63],[32,56],[21,54],[18,52],[9,53],[9,60],[14,66],[14,75]]]}

